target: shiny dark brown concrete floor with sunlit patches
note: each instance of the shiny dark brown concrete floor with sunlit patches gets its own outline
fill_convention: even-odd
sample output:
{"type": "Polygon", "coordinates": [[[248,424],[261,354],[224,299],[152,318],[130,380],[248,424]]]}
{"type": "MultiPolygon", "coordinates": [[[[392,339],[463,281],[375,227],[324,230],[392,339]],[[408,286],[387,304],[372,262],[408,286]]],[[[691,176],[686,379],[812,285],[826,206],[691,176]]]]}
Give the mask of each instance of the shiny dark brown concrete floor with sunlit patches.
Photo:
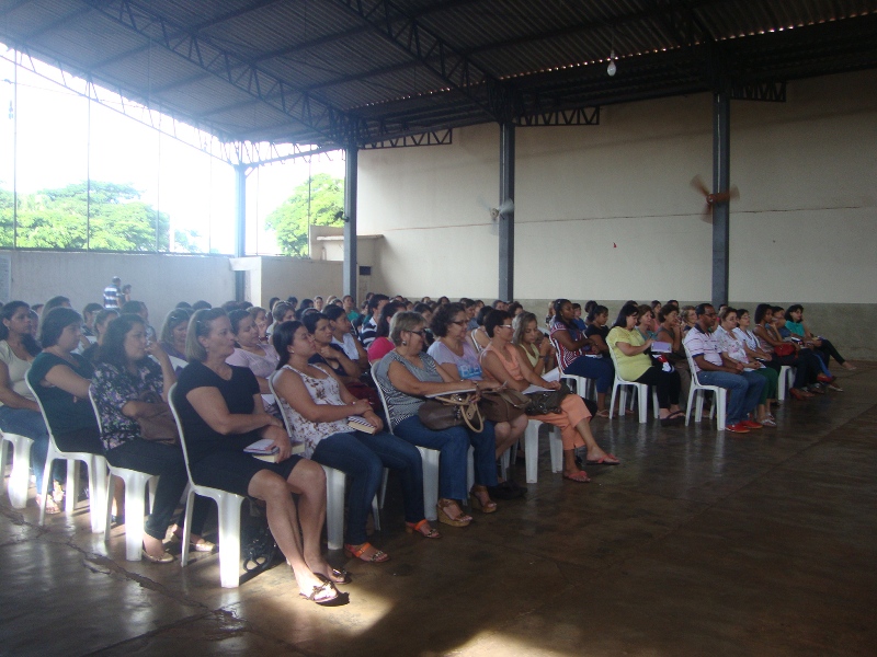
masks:
{"type": "MultiPolygon", "coordinates": [[[[218,557],[124,561],[72,517],[0,504],[0,655],[877,654],[877,366],[786,403],[779,428],[594,420],[618,468],[548,468],[525,500],[441,541],[401,531],[392,560],[344,564],[351,603],[298,599],[288,568],[219,587],[218,557]]],[[[515,466],[523,481],[523,463],[515,466]]]]}

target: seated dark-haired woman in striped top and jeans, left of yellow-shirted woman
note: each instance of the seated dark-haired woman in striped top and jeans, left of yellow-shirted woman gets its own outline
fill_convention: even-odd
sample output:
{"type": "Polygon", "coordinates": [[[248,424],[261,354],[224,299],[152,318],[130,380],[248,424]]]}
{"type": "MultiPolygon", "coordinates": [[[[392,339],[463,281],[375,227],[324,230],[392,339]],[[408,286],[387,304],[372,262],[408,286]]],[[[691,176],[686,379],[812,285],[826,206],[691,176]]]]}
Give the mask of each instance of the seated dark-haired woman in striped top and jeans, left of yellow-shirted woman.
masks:
{"type": "MultiPolygon", "coordinates": [[[[610,358],[603,358],[593,342],[573,324],[572,303],[569,299],[557,299],[555,318],[549,330],[557,344],[557,359],[565,374],[596,379],[596,414],[608,417],[606,392],[615,380],[615,368],[610,358]]],[[[580,391],[580,394],[584,391],[580,391]]]]}

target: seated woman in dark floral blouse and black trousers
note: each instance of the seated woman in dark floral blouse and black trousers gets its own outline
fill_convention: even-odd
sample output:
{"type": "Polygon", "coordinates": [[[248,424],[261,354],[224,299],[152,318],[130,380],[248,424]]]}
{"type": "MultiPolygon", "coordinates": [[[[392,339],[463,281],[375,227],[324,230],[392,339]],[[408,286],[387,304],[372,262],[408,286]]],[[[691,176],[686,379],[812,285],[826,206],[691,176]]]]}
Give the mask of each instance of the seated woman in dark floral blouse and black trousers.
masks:
{"type": "MultiPolygon", "coordinates": [[[[145,440],[137,419],[163,408],[143,397],[152,393],[167,400],[168,390],[175,380],[173,366],[161,346],[147,343],[143,318],[123,314],[110,324],[91,383],[101,416],[101,440],[110,464],[159,475],[152,512],[144,533],[144,556],[158,564],[173,561],[173,556],[164,552],[163,540],[176,503],[189,484],[189,475],[180,446],[145,440]]],[[[203,497],[197,497],[192,508],[191,543],[203,552],[215,549],[213,543],[201,538],[208,509],[208,500],[203,497]]],[[[182,538],[179,525],[175,533],[182,538]]]]}

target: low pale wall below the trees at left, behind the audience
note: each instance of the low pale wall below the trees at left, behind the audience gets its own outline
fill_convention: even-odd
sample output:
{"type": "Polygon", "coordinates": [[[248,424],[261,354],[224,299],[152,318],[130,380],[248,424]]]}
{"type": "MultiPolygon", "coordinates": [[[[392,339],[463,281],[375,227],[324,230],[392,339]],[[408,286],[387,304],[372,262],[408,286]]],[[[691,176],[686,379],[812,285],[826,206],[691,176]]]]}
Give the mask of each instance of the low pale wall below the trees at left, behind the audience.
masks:
{"type": "Polygon", "coordinates": [[[235,277],[228,257],[121,253],[2,251],[11,261],[10,298],[44,303],[50,297],[70,298],[79,312],[86,303],[103,302],[103,288],[113,276],[132,285],[132,296],[146,302],[149,323],[161,327],[179,301],[204,299],[218,306],[235,298],[235,277]]]}

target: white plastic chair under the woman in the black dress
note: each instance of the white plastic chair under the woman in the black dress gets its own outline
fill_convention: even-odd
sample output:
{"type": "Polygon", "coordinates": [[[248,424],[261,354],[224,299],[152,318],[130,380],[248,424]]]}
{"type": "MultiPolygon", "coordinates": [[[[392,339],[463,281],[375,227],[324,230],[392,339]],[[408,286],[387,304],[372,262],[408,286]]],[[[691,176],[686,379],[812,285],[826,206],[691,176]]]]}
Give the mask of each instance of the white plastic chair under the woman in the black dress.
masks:
{"type": "Polygon", "coordinates": [[[229,493],[220,488],[200,486],[192,479],[192,471],[189,469],[189,451],[185,448],[185,431],[176,413],[176,405],[173,403],[173,391],[176,383],[171,385],[168,391],[168,402],[176,420],[176,429],[180,431],[180,442],[183,446],[183,458],[185,459],[185,471],[189,475],[189,495],[185,500],[185,520],[183,521],[183,551],[180,557],[180,565],[185,567],[189,564],[189,539],[192,527],[192,507],[194,506],[195,495],[209,497],[216,502],[219,508],[219,580],[224,588],[237,588],[240,584],[240,505],[243,497],[229,493]]]}

